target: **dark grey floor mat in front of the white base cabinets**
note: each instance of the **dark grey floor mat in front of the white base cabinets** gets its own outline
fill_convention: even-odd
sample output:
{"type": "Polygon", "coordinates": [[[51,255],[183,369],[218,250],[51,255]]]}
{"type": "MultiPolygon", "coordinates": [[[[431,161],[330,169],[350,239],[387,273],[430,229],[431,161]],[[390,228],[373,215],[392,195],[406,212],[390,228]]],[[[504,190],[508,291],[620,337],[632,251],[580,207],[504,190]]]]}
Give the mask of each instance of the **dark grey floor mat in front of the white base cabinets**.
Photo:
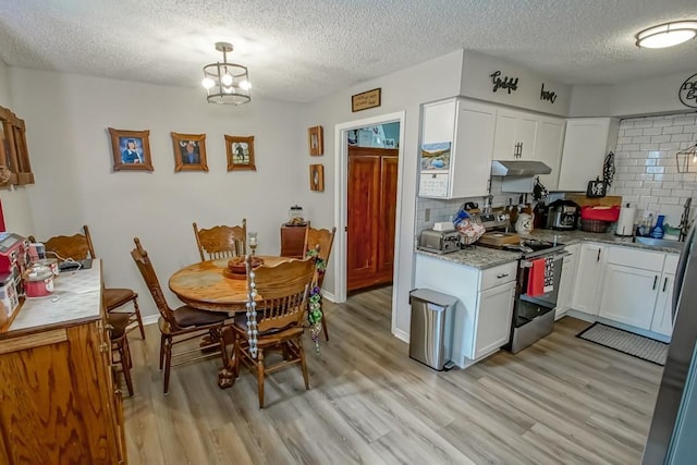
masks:
{"type": "Polygon", "coordinates": [[[634,334],[621,329],[612,328],[602,323],[592,323],[576,338],[614,348],[628,355],[655,363],[665,365],[668,356],[668,344],[650,338],[634,334]]]}

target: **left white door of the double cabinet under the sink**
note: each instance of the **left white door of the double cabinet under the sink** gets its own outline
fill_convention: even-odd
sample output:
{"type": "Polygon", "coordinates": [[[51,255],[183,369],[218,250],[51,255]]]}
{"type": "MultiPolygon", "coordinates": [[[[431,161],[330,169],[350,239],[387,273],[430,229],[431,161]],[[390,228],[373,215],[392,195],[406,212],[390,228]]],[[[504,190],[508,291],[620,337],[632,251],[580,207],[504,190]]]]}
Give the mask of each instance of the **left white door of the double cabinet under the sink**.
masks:
{"type": "Polygon", "coordinates": [[[608,265],[599,315],[641,329],[651,329],[660,273],[608,265]]]}

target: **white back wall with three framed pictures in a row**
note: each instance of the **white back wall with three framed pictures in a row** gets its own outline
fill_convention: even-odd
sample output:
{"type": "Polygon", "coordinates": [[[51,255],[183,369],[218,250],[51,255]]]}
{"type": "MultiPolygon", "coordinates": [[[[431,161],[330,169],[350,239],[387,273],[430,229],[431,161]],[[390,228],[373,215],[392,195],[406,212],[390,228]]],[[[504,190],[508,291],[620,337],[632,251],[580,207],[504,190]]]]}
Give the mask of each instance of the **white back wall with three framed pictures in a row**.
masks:
{"type": "MultiPolygon", "coordinates": [[[[174,88],[11,69],[13,101],[27,124],[36,185],[29,191],[37,238],[88,224],[106,283],[142,295],[156,314],[130,252],[139,236],[161,284],[197,261],[192,222],[259,232],[258,254],[280,249],[288,209],[306,204],[304,107],[255,97],[241,107],[206,102],[199,88],[174,88]],[[155,172],[112,172],[108,127],[149,130],[155,172]],[[206,172],[174,172],[170,132],[206,133],[206,172]],[[255,136],[257,171],[227,172],[223,135],[255,136]]],[[[174,306],[179,301],[168,295],[174,306]]]]}

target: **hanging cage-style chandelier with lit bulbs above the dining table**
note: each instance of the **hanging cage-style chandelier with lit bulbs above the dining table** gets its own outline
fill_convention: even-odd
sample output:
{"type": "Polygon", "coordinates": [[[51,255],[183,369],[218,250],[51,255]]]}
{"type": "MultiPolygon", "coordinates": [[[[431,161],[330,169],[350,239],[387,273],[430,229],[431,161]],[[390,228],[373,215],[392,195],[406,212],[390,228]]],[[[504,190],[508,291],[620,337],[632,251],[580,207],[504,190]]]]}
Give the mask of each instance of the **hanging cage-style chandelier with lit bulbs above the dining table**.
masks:
{"type": "Polygon", "coordinates": [[[204,66],[201,85],[208,93],[208,103],[242,105],[252,100],[252,83],[247,68],[228,63],[228,53],[232,44],[216,42],[216,50],[222,52],[222,63],[204,66]]]}

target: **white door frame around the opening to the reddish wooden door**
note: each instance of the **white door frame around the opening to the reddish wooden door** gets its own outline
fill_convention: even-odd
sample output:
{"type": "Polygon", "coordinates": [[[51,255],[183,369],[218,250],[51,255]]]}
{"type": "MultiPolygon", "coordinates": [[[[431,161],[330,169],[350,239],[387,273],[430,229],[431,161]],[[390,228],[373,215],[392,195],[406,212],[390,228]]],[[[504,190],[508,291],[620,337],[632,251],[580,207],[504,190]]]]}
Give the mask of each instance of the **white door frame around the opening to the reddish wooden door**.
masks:
{"type": "MultiPolygon", "coordinates": [[[[338,303],[346,302],[346,223],[347,223],[347,197],[348,197],[348,144],[346,133],[365,126],[378,124],[400,123],[400,145],[398,148],[398,178],[396,178],[396,205],[395,205],[395,228],[394,228],[394,268],[392,280],[396,282],[396,272],[400,267],[399,225],[402,220],[402,181],[404,171],[404,118],[405,111],[379,114],[377,117],[364,118],[362,120],[339,123],[334,126],[334,154],[337,154],[334,170],[334,224],[339,234],[334,237],[337,260],[334,260],[334,298],[338,303]]],[[[392,291],[392,331],[395,326],[396,293],[392,291]]]]}

